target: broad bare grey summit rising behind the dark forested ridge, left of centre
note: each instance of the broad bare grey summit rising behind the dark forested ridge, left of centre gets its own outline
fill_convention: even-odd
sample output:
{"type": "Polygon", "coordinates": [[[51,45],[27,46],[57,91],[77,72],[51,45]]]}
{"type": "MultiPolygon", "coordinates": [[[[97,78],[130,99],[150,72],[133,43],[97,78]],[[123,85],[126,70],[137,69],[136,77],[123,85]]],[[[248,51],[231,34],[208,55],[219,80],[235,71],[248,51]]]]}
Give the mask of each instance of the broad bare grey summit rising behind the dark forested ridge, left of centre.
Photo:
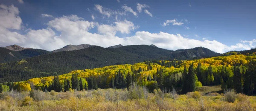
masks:
{"type": "Polygon", "coordinates": [[[67,45],[63,48],[60,48],[60,49],[56,49],[52,52],[59,52],[59,51],[74,51],[74,50],[80,50],[80,49],[84,49],[84,48],[88,48],[88,47],[91,47],[92,45],[89,45],[89,44],[81,44],[81,45],[67,45]]]}

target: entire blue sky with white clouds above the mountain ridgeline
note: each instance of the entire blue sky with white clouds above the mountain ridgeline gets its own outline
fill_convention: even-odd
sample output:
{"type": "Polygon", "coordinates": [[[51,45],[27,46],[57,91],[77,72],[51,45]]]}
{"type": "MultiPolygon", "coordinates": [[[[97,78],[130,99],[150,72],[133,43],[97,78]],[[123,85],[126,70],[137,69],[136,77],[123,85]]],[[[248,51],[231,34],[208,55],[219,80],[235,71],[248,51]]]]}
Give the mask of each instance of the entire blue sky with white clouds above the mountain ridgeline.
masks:
{"type": "Polygon", "coordinates": [[[256,47],[256,0],[0,0],[0,47],[256,47]]]}

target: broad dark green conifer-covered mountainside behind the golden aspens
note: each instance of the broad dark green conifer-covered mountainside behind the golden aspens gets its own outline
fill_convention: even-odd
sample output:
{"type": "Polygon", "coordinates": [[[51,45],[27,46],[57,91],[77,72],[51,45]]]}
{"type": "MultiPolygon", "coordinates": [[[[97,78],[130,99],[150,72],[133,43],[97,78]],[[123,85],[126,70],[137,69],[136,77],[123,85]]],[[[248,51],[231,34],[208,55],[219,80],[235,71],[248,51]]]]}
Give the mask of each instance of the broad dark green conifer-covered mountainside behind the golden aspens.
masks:
{"type": "MultiPolygon", "coordinates": [[[[23,50],[27,51],[29,49],[23,50]]],[[[33,77],[65,74],[77,69],[134,64],[150,60],[189,60],[219,55],[207,48],[170,51],[147,45],[102,48],[93,46],[76,51],[61,51],[18,62],[0,64],[0,82],[15,82],[33,77]]]]}

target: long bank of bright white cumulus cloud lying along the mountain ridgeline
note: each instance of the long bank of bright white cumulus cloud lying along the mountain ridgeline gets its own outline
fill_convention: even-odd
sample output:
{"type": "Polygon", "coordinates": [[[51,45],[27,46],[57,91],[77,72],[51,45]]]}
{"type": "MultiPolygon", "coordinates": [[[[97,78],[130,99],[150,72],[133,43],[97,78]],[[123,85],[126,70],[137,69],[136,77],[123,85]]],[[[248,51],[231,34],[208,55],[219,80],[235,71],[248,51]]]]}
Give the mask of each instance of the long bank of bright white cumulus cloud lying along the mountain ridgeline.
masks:
{"type": "MultiPolygon", "coordinates": [[[[8,9],[12,6],[6,7],[8,9]]],[[[13,13],[11,11],[8,12],[13,13]]],[[[6,16],[9,16],[9,14],[6,14],[6,16]]],[[[19,18],[18,15],[15,17],[19,18]]],[[[20,22],[15,23],[20,25],[20,22]]],[[[30,29],[26,32],[26,34],[19,34],[15,31],[9,30],[14,26],[9,26],[9,24],[1,24],[0,46],[18,44],[23,47],[41,48],[52,51],[66,46],[67,44],[92,44],[102,47],[113,46],[116,44],[154,44],[160,48],[170,50],[203,46],[212,51],[223,53],[230,50],[250,49],[252,46],[255,46],[253,43],[256,41],[241,40],[240,43],[227,46],[216,40],[195,40],[183,37],[180,34],[169,34],[165,32],[150,33],[147,31],[137,31],[130,37],[120,38],[116,36],[116,32],[129,34],[131,31],[138,28],[138,26],[135,26],[134,23],[128,20],[116,21],[113,23],[113,25],[99,25],[99,23],[84,20],[84,18],[78,17],[77,15],[54,18],[54,20],[47,22],[46,25],[47,28],[38,30],[30,29]],[[92,28],[97,28],[98,33],[91,33],[90,29],[92,28]],[[56,33],[55,31],[60,33],[56,33]]]]}

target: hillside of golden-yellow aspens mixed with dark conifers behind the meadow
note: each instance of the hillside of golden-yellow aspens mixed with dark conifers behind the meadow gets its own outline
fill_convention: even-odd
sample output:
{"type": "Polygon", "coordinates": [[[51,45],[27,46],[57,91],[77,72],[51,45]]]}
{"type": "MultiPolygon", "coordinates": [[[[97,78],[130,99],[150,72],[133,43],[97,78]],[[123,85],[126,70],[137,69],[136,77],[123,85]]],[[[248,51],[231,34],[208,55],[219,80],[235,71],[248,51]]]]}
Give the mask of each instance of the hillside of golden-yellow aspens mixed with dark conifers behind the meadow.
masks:
{"type": "Polygon", "coordinates": [[[146,86],[151,92],[160,88],[167,92],[175,89],[186,94],[202,85],[221,85],[223,90],[234,88],[238,93],[256,94],[256,56],[231,55],[199,60],[111,65],[4,85],[18,91],[29,91],[31,88],[69,91],[129,88],[131,83],[146,86]]]}

